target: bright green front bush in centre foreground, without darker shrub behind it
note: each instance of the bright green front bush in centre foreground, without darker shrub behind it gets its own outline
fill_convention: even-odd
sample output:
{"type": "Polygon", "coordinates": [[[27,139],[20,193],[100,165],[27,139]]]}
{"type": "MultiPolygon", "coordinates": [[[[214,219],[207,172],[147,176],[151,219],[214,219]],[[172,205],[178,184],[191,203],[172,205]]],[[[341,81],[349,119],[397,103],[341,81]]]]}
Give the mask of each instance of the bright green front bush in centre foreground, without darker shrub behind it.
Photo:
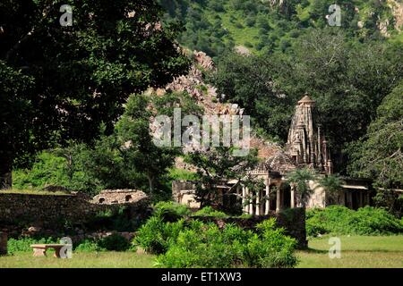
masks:
{"type": "Polygon", "coordinates": [[[293,267],[296,240],[275,229],[275,221],[258,225],[258,233],[228,224],[193,222],[171,240],[157,258],[160,267],[293,267]]]}

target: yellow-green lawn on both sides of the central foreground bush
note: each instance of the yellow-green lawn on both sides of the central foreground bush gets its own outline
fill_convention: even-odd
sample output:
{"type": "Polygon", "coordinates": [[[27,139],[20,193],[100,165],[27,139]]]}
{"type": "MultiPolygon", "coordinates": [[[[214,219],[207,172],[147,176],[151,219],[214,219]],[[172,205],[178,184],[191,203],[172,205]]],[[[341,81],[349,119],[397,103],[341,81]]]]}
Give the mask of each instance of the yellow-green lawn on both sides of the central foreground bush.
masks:
{"type": "MultiPolygon", "coordinates": [[[[340,236],[341,258],[330,259],[329,237],[309,241],[308,250],[297,251],[300,259],[297,267],[401,267],[403,268],[403,236],[340,236]]],[[[154,257],[127,252],[73,253],[72,259],[32,257],[32,253],[17,253],[0,257],[0,268],[52,267],[52,268],[149,268],[154,257]]]]}

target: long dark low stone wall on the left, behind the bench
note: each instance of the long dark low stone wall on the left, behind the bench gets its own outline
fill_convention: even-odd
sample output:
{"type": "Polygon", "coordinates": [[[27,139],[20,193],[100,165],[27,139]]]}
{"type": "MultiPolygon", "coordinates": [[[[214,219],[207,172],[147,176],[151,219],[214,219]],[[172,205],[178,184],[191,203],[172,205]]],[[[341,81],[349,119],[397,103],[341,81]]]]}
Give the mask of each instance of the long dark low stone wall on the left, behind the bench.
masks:
{"type": "Polygon", "coordinates": [[[29,195],[0,192],[0,229],[2,225],[40,225],[63,228],[88,222],[99,212],[115,212],[129,206],[132,215],[141,215],[149,206],[149,199],[116,205],[93,204],[78,195],[29,195]]]}

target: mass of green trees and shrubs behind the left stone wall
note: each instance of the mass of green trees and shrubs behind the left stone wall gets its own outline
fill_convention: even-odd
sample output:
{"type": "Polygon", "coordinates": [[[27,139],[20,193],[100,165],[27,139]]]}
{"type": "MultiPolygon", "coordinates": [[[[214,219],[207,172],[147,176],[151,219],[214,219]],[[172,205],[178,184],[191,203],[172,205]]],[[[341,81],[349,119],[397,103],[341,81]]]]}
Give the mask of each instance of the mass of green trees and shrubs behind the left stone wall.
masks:
{"type": "Polygon", "coordinates": [[[172,115],[175,107],[181,107],[185,114],[201,113],[187,93],[133,95],[111,135],[101,126],[101,136],[92,146],[72,141],[68,147],[40,153],[29,170],[13,173],[13,186],[41,189],[56,185],[91,195],[100,189],[142,189],[155,200],[167,199],[168,182],[173,180],[170,167],[182,150],[154,145],[150,119],[157,114],[172,115]]]}

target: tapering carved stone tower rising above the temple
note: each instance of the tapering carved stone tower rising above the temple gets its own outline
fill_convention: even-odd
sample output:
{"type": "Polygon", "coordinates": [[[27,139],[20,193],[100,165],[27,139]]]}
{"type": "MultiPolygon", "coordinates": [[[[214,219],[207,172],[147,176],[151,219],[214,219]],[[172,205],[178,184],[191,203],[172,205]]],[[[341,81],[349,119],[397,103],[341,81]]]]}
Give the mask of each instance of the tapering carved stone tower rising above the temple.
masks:
{"type": "Polygon", "coordinates": [[[291,122],[287,139],[287,155],[296,164],[307,165],[320,172],[332,173],[333,164],[327,141],[321,126],[316,124],[315,102],[305,95],[298,105],[291,122]]]}

